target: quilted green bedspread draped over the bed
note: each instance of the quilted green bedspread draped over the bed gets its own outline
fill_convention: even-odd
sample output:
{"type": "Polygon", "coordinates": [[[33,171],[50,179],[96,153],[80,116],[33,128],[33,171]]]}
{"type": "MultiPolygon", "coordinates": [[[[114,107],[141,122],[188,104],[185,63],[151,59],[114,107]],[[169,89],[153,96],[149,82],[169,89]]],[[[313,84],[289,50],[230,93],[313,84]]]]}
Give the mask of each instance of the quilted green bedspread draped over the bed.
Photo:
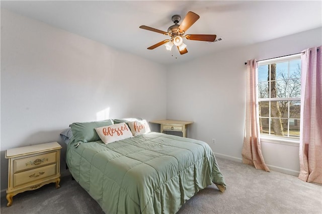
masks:
{"type": "Polygon", "coordinates": [[[199,190],[225,181],[208,144],[151,132],[105,145],[70,143],[75,180],[106,213],[176,213],[199,190]]]}

